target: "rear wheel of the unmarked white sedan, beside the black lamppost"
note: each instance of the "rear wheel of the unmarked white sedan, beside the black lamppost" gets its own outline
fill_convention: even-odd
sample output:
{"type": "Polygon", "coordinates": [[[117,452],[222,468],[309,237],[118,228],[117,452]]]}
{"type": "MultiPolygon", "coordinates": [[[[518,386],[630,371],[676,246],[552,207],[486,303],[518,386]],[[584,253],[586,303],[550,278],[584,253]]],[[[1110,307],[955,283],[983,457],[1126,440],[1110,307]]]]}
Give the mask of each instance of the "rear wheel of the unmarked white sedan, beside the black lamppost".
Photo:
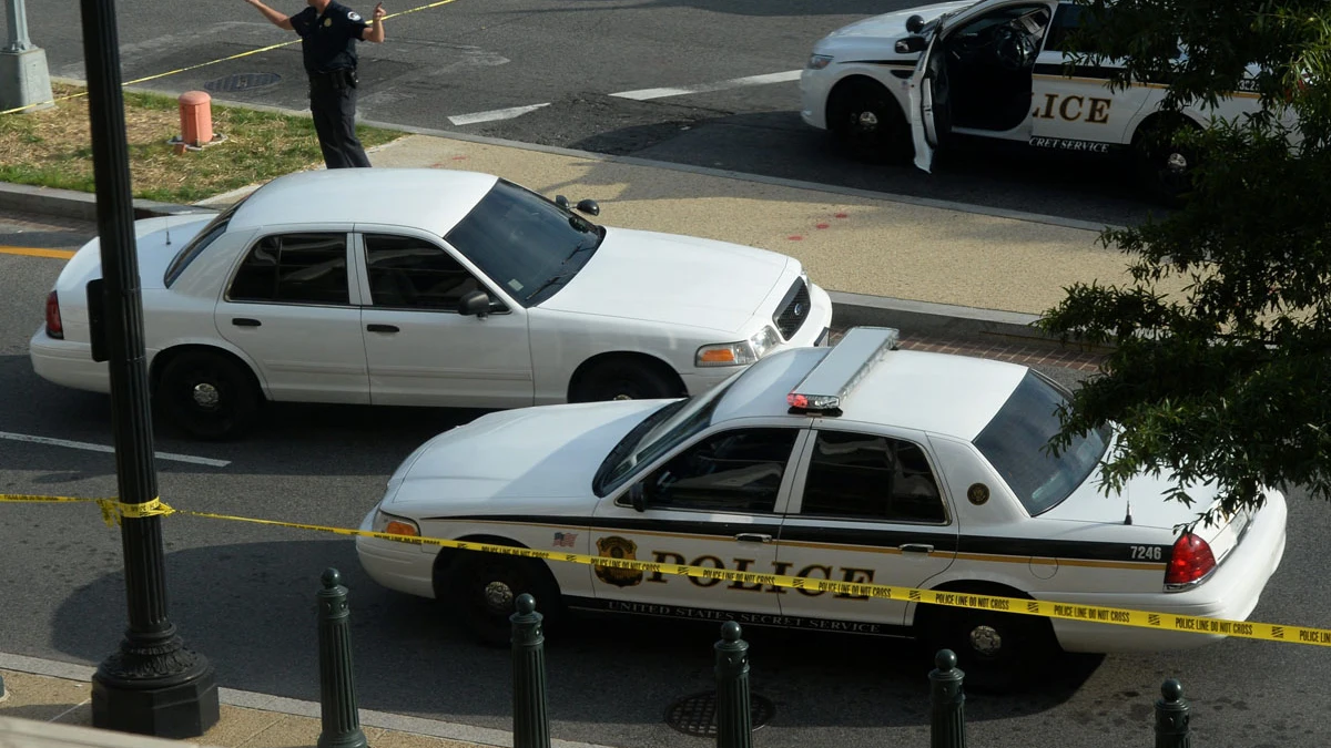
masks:
{"type": "Polygon", "coordinates": [[[196,439],[226,439],[245,431],[262,399],[236,359],[202,350],[172,358],[153,391],[153,406],[196,439]]]}

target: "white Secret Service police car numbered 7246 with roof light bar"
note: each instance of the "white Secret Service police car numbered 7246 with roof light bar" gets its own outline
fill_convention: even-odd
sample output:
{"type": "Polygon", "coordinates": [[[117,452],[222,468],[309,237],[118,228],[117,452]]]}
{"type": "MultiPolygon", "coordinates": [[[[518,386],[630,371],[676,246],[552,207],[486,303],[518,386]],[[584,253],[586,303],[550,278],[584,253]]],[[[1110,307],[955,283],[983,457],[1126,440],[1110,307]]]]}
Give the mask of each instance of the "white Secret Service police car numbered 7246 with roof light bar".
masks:
{"type": "MultiPolygon", "coordinates": [[[[1066,391],[1026,366],[898,350],[855,327],[771,354],[704,395],[484,415],[417,449],[362,530],[896,587],[1243,619],[1284,552],[1268,491],[1223,526],[1157,478],[1106,498],[1115,438],[1058,457],[1066,391]]],[[[913,636],[966,672],[1058,650],[1197,647],[1217,636],[547,562],[358,536],[379,584],[446,599],[507,642],[515,596],[547,614],[612,611],[913,636]]],[[[930,648],[929,651],[934,651],[930,648]]],[[[1024,665],[1025,667],[1025,665],[1024,665]]]]}

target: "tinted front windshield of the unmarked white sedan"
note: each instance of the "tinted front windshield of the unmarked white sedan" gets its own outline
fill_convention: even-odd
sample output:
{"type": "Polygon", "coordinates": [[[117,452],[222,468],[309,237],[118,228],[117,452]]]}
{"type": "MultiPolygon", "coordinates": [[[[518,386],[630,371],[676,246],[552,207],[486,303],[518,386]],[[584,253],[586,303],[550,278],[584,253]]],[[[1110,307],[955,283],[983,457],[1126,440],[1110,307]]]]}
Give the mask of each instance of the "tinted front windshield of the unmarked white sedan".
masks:
{"type": "Polygon", "coordinates": [[[606,237],[606,229],[544,197],[499,180],[443,238],[523,306],[559,291],[606,237]]]}

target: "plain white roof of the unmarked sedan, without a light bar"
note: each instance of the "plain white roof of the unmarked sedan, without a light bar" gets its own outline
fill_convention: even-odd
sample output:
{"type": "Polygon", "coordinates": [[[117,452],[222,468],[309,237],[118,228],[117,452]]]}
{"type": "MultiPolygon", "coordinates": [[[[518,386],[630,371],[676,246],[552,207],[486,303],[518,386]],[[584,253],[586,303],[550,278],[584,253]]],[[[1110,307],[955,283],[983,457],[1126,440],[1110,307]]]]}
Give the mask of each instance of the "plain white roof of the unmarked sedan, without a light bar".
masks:
{"type": "Polygon", "coordinates": [[[387,224],[449,233],[498,177],[455,169],[318,169],[254,190],[232,229],[281,224],[387,224]]]}

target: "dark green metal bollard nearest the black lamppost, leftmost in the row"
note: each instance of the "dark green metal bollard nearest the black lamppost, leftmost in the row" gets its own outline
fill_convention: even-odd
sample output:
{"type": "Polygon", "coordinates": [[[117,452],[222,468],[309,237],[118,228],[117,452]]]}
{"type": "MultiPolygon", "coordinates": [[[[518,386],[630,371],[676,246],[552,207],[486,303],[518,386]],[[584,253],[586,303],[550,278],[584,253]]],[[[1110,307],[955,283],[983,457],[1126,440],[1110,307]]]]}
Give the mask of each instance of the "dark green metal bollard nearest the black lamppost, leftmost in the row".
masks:
{"type": "Polygon", "coordinates": [[[346,587],[335,568],[323,570],[319,603],[319,707],[322,731],[318,748],[366,748],[361,712],[355,708],[351,672],[351,611],[346,587]]]}

